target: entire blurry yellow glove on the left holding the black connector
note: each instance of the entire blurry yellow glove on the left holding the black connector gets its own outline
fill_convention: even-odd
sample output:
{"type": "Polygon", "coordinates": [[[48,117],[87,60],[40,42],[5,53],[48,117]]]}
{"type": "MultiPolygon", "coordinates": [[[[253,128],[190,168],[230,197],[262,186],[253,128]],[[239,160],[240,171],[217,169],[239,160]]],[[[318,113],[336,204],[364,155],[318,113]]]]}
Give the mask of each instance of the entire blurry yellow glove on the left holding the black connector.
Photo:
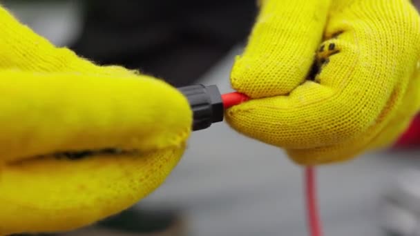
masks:
{"type": "Polygon", "coordinates": [[[0,8],[0,235],[73,230],[162,184],[191,132],[168,84],[55,48],[0,8]]]}

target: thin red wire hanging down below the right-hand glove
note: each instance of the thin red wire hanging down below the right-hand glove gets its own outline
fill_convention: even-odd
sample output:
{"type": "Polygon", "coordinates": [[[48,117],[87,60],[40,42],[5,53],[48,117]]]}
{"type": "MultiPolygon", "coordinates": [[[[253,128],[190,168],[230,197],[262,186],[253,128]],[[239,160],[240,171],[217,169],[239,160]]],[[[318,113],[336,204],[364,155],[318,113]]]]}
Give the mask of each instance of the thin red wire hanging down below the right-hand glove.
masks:
{"type": "Polygon", "coordinates": [[[305,169],[305,195],[306,195],[306,206],[307,206],[307,224],[309,228],[309,235],[321,236],[321,217],[318,213],[316,197],[316,175],[313,167],[307,167],[305,169]]]}

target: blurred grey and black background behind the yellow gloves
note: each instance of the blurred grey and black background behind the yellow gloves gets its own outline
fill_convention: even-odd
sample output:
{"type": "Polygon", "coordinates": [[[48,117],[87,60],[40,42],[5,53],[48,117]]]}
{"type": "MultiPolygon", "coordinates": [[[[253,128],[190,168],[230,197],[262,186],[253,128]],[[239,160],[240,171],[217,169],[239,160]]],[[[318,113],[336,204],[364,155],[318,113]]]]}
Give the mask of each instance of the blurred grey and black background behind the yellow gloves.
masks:
{"type": "MultiPolygon", "coordinates": [[[[173,86],[216,84],[256,17],[254,0],[1,1],[57,46],[173,86]]],[[[318,168],[325,235],[420,235],[420,148],[318,168]]],[[[120,215],[56,235],[307,235],[303,170],[226,124],[193,133],[166,183],[120,215]]]]}

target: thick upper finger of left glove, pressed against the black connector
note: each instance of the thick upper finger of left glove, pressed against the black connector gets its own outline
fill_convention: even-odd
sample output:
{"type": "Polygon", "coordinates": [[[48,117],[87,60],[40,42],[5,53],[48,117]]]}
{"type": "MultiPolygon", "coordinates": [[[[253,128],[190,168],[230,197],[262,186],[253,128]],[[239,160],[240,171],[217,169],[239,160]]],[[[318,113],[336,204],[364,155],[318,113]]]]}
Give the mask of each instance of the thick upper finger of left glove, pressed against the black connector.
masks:
{"type": "Polygon", "coordinates": [[[146,76],[0,72],[2,162],[84,150],[149,151],[182,146],[187,99],[146,76]]]}

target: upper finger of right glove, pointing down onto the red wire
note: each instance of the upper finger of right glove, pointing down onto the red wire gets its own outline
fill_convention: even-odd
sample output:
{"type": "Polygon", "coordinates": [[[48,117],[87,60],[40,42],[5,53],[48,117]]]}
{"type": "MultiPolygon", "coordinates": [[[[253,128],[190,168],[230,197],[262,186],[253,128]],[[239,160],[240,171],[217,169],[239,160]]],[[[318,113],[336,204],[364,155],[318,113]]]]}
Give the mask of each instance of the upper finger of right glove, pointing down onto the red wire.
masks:
{"type": "Polygon", "coordinates": [[[261,1],[231,84],[252,98],[286,95],[303,83],[321,42],[330,0],[261,1]]]}

